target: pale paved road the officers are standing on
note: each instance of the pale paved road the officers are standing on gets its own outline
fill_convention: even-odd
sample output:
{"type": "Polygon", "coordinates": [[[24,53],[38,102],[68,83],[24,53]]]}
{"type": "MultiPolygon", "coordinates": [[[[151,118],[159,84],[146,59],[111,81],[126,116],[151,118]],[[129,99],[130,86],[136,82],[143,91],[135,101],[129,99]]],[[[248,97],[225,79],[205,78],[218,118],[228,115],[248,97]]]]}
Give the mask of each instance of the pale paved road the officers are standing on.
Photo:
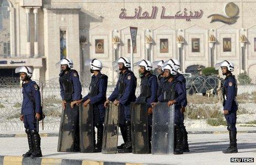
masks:
{"type": "MultiPolygon", "coordinates": [[[[121,139],[121,136],[119,137],[121,139]]],[[[237,135],[239,153],[223,154],[228,146],[228,134],[190,134],[190,152],[184,155],[134,155],[102,153],[60,153],[57,150],[57,137],[42,138],[44,157],[72,158],[76,160],[132,162],[148,164],[233,164],[230,158],[254,158],[256,164],[256,133],[237,135]]],[[[121,141],[119,141],[119,144],[121,141]]],[[[28,150],[26,138],[0,138],[0,155],[20,156],[28,150]]],[[[240,164],[240,163],[239,163],[240,164]]],[[[246,163],[253,164],[253,163],[246,163]]]]}

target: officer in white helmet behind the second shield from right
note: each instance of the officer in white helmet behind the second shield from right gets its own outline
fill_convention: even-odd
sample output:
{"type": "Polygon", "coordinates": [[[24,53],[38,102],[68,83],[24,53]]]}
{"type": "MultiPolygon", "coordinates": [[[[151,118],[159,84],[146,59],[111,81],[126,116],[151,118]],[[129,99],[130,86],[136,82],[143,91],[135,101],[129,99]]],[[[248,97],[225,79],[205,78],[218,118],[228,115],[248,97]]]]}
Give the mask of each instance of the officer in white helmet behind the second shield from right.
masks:
{"type": "Polygon", "coordinates": [[[140,69],[138,73],[141,78],[141,91],[136,102],[146,102],[148,112],[148,142],[151,149],[152,136],[152,107],[153,102],[157,102],[157,76],[152,74],[153,65],[150,61],[143,59],[138,62],[140,69]]]}

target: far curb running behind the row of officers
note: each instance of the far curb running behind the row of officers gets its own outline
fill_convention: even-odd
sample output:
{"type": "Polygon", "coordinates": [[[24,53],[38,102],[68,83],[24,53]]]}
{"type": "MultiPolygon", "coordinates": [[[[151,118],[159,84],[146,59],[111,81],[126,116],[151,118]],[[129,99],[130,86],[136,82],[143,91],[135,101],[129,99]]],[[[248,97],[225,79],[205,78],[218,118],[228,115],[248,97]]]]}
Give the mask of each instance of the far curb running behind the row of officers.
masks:
{"type": "MultiPolygon", "coordinates": [[[[227,134],[228,131],[188,131],[188,134],[227,134]]],[[[256,130],[237,131],[237,133],[256,133],[256,130]]],[[[121,134],[120,134],[121,135],[121,134]]],[[[42,133],[41,137],[56,137],[58,133],[42,133]]],[[[26,138],[26,134],[0,134],[0,138],[26,138]]]]}

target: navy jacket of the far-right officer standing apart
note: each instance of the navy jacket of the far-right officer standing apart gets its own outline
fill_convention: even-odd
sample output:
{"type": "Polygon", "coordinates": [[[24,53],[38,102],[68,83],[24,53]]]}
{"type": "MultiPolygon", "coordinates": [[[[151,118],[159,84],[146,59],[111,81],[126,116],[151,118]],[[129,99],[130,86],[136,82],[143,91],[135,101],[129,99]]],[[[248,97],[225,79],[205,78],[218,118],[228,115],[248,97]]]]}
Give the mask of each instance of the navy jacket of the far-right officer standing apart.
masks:
{"type": "Polygon", "coordinates": [[[223,110],[236,111],[238,109],[236,98],[236,78],[230,74],[225,78],[223,95],[226,96],[223,110]]]}

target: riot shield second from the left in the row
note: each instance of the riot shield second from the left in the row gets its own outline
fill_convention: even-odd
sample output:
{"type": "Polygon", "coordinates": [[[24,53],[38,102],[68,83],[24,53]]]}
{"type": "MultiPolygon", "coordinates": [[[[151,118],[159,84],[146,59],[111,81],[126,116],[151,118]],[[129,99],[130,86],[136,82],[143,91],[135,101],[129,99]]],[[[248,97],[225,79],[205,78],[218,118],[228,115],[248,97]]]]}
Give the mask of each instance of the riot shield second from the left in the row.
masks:
{"type": "Polygon", "coordinates": [[[93,152],[93,107],[81,104],[79,108],[79,136],[81,152],[93,152]]]}

